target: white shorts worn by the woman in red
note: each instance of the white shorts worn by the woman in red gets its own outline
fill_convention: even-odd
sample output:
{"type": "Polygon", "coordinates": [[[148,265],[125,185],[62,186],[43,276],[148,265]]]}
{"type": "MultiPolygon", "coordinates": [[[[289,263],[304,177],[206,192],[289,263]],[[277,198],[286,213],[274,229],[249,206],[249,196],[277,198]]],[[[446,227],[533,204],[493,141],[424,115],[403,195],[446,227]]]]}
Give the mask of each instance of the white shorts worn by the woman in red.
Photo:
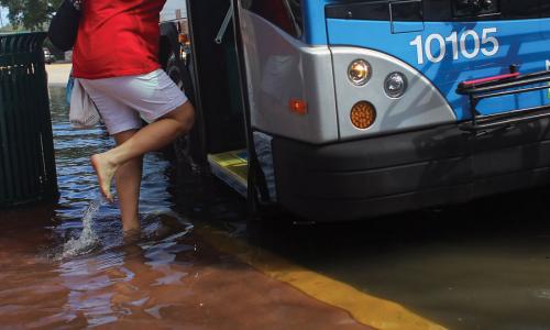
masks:
{"type": "Polygon", "coordinates": [[[146,75],[78,79],[96,103],[109,134],[141,129],[187,102],[162,69],[146,75]]]}

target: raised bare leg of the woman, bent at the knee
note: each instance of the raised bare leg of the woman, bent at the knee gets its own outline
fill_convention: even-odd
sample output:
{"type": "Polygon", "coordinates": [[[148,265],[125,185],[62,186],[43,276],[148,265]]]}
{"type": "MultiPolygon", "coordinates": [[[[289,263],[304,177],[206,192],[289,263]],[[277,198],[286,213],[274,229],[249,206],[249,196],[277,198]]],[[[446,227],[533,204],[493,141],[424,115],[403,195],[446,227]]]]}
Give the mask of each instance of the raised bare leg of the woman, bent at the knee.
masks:
{"type": "Polygon", "coordinates": [[[111,182],[117,170],[128,161],[147,152],[160,150],[180,134],[187,133],[194,123],[195,112],[190,102],[178,107],[156,122],[138,131],[132,138],[110,151],[91,156],[103,196],[112,202],[111,182]]]}

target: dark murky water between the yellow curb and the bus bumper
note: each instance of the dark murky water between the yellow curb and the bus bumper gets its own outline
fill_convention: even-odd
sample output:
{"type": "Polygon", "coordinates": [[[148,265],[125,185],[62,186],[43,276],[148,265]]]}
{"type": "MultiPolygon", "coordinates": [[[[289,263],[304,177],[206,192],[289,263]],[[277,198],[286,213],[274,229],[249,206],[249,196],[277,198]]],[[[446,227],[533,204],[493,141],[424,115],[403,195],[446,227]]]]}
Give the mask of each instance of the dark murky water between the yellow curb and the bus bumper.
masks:
{"type": "Polygon", "coordinates": [[[548,200],[540,188],[354,223],[274,222],[248,234],[450,329],[550,329],[548,200]]]}

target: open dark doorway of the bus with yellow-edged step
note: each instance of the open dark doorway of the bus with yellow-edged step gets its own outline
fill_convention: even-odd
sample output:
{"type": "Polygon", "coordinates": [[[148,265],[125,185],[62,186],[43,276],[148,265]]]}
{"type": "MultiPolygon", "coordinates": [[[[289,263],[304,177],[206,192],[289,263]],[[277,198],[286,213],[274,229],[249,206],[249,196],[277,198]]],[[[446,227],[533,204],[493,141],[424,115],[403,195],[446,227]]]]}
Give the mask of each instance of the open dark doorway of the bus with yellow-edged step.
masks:
{"type": "Polygon", "coordinates": [[[187,13],[198,114],[190,143],[200,166],[246,195],[246,129],[231,3],[188,0],[187,13]]]}

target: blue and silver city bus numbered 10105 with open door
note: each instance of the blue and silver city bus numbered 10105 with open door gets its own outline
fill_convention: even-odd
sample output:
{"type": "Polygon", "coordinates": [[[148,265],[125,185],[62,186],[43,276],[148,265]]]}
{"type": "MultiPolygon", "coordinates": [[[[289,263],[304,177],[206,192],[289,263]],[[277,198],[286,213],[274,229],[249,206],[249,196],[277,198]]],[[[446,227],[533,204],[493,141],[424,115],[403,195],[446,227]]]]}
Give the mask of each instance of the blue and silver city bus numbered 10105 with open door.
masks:
{"type": "Polygon", "coordinates": [[[185,6],[189,58],[166,63],[175,29],[162,56],[197,108],[179,145],[251,209],[358,220],[550,182],[548,1],[185,6]]]}

